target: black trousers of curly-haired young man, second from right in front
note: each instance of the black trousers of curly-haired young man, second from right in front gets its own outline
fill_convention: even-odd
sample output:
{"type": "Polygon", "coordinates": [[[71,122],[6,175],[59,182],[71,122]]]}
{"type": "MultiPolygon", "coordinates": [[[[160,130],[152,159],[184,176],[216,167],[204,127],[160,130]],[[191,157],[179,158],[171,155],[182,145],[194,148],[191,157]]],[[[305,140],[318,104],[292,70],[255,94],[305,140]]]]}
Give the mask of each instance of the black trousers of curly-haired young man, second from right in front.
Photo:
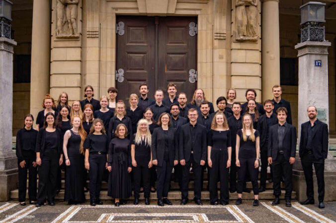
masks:
{"type": "Polygon", "coordinates": [[[291,199],[293,191],[292,169],[293,165],[285,160],[283,154],[278,154],[276,160],[272,160],[273,194],[278,197],[281,194],[280,184],[282,176],[285,179],[285,198],[291,199]]]}

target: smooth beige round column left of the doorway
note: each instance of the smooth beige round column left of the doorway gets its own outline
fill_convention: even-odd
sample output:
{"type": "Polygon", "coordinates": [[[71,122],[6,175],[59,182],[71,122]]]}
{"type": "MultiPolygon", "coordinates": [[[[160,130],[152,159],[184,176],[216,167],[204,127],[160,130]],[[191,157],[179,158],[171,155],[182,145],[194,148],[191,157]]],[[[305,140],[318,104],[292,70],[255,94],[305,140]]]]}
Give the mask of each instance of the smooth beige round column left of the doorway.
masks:
{"type": "Polygon", "coordinates": [[[50,2],[34,0],[31,37],[30,112],[36,118],[42,100],[49,93],[50,74],[50,2]]]}

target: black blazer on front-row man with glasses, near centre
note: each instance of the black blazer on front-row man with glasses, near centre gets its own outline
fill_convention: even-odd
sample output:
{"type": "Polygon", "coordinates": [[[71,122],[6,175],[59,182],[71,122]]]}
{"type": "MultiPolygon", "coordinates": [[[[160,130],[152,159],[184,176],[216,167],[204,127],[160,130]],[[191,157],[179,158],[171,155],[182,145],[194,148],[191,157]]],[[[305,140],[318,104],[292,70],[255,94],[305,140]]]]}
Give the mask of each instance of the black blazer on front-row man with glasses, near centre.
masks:
{"type": "Polygon", "coordinates": [[[179,136],[179,160],[185,160],[188,162],[191,154],[191,147],[193,148],[193,155],[195,162],[200,163],[201,160],[206,161],[207,155],[207,131],[206,128],[196,123],[195,125],[195,142],[192,145],[190,122],[182,125],[181,133],[179,136]]]}

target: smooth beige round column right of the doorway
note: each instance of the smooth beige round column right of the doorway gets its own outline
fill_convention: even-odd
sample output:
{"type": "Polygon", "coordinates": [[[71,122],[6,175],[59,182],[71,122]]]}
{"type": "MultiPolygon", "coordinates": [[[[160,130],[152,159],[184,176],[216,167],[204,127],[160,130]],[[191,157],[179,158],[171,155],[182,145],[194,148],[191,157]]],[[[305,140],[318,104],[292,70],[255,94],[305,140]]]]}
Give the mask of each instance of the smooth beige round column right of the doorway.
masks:
{"type": "Polygon", "coordinates": [[[261,85],[265,101],[273,98],[273,85],[280,84],[279,0],[263,0],[261,17],[261,85]]]}

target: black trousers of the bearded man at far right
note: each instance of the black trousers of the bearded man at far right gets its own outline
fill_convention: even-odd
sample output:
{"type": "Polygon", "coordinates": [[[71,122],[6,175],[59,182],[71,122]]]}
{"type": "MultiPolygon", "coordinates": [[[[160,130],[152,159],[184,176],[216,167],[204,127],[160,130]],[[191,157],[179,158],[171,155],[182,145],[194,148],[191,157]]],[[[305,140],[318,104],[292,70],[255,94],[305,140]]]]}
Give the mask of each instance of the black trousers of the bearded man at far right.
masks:
{"type": "Polygon", "coordinates": [[[318,162],[314,159],[313,154],[305,153],[301,158],[301,164],[306,178],[307,198],[310,200],[314,200],[314,184],[313,184],[313,164],[314,164],[317,178],[319,201],[322,202],[325,197],[325,178],[324,178],[325,161],[322,160],[318,162]]]}

